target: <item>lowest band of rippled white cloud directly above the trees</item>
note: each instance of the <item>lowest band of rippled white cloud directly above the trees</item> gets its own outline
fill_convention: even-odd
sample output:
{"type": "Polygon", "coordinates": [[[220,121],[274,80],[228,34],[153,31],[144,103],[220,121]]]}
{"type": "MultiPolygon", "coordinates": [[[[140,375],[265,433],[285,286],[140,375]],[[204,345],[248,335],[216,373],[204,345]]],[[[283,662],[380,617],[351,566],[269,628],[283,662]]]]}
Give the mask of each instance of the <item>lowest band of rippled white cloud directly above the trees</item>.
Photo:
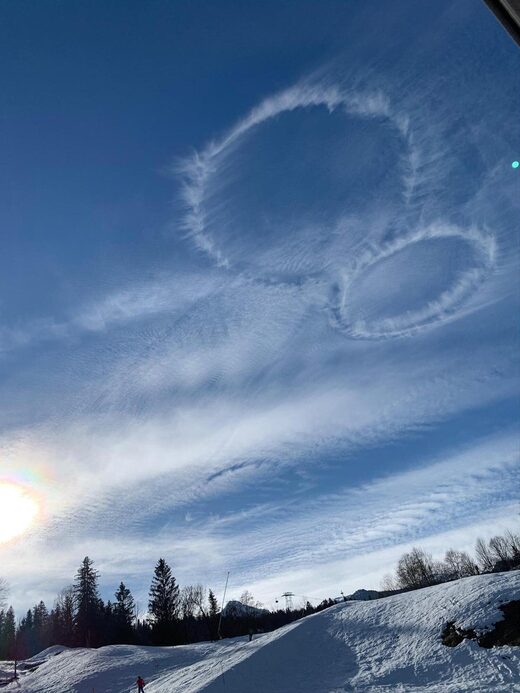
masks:
{"type": "MultiPolygon", "coordinates": [[[[157,556],[166,555],[181,581],[204,574],[215,586],[231,569],[237,595],[249,586],[265,601],[274,601],[283,583],[301,595],[321,599],[334,589],[377,587],[400,553],[414,544],[438,557],[452,545],[471,551],[476,536],[489,536],[510,522],[520,500],[515,492],[519,474],[517,438],[511,431],[451,457],[422,458],[416,469],[305,503],[294,499],[253,505],[247,512],[201,516],[176,529],[141,530],[134,538],[125,532],[117,545],[104,531],[59,541],[53,533],[44,541],[41,569],[57,590],[81,556],[91,554],[108,588],[122,574],[140,585],[149,579],[157,556]]],[[[145,505],[146,496],[135,502],[145,505]]],[[[99,512],[96,517],[98,526],[111,526],[100,523],[99,512]]],[[[8,574],[11,583],[21,579],[41,544],[42,537],[35,536],[17,551],[8,574]]],[[[139,598],[146,601],[144,589],[139,598]]]]}

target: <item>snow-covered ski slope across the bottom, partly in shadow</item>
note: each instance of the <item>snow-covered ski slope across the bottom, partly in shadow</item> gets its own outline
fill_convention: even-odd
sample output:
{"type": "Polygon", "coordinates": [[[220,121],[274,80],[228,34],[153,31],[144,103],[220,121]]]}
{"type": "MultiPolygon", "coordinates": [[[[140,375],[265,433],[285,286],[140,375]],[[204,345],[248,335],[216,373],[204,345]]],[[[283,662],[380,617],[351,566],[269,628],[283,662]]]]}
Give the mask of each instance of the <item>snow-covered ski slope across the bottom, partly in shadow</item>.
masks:
{"type": "MultiPolygon", "coordinates": [[[[482,631],[520,599],[520,571],[465,578],[387,599],[345,602],[256,637],[184,647],[55,650],[25,693],[494,693],[520,691],[520,647],[441,643],[447,621],[482,631]]],[[[36,658],[35,658],[36,659],[36,658]]]]}

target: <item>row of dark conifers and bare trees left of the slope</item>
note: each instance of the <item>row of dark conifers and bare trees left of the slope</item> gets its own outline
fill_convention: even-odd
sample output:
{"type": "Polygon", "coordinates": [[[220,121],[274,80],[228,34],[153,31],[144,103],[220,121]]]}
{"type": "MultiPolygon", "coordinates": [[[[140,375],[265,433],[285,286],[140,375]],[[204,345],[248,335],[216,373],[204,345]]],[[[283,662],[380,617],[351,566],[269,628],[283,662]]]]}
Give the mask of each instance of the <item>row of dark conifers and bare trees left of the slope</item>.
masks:
{"type": "MultiPolygon", "coordinates": [[[[250,606],[254,604],[248,592],[242,599],[250,606]]],[[[86,556],[73,585],[58,595],[50,610],[40,601],[18,622],[12,606],[0,610],[0,659],[26,659],[52,645],[181,645],[267,632],[331,604],[332,600],[324,600],[313,607],[307,602],[292,611],[249,609],[220,618],[215,593],[200,584],[181,589],[170,566],[160,558],[150,585],[147,616],[139,618],[134,597],[124,582],[113,599],[106,603],[101,599],[99,573],[86,556]]]]}

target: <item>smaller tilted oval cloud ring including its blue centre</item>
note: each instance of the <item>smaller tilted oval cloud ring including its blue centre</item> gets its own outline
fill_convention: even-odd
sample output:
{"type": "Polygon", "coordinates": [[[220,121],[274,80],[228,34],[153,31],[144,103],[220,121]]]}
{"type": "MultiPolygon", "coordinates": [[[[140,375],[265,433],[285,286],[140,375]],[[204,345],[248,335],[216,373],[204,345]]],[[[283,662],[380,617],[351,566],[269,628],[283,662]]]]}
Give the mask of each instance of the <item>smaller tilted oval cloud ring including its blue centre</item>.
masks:
{"type": "Polygon", "coordinates": [[[334,286],[336,327],[357,339],[411,335],[445,322],[494,265],[492,236],[432,226],[364,249],[334,286]]]}

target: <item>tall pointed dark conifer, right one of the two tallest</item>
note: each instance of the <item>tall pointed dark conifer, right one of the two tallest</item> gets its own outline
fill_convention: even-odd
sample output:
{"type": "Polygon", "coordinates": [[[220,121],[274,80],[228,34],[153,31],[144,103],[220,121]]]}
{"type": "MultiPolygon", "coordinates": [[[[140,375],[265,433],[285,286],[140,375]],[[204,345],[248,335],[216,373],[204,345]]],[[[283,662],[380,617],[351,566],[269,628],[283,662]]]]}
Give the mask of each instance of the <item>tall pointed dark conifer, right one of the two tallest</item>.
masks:
{"type": "Polygon", "coordinates": [[[160,558],[155,566],[149,596],[148,610],[156,642],[171,642],[174,637],[179,587],[164,558],[160,558]]]}

